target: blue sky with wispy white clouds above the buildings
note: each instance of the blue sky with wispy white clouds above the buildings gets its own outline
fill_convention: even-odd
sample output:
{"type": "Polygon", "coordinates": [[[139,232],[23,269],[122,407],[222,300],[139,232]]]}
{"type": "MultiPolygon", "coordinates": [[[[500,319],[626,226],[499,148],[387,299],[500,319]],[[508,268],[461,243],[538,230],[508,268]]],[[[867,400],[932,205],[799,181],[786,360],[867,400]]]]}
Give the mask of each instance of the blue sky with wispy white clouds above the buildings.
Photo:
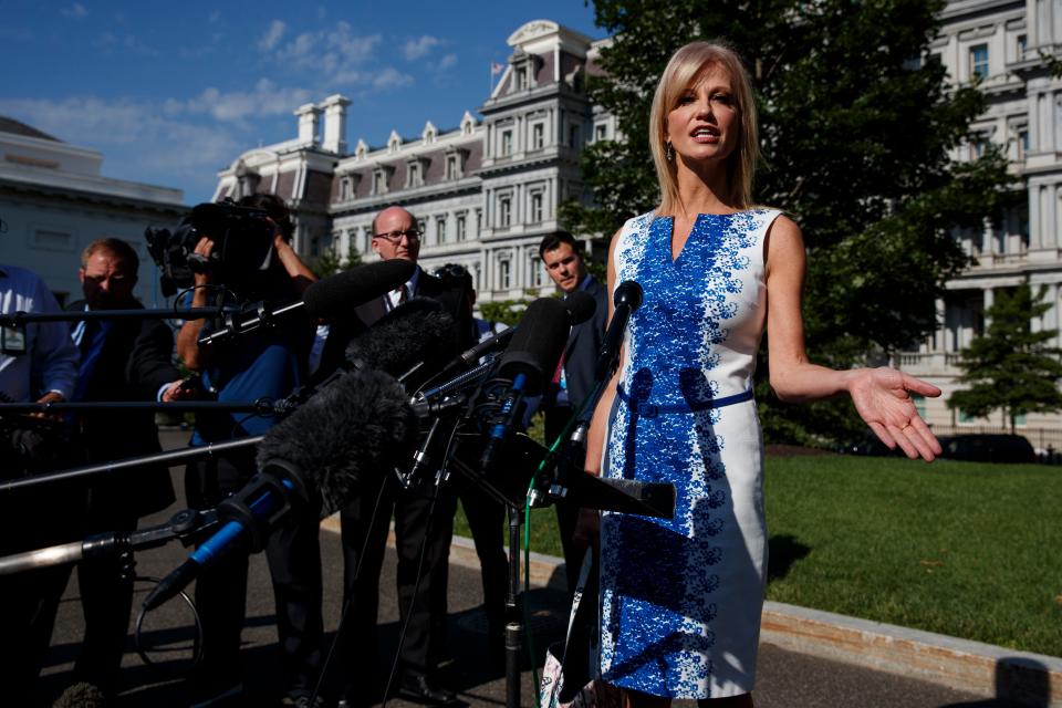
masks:
{"type": "Polygon", "coordinates": [[[583,0],[46,2],[0,0],[0,115],[104,155],[108,177],[210,198],[241,152],[296,135],[292,111],[342,93],[347,143],[456,127],[506,39],[549,19],[592,39],[583,0]]]}

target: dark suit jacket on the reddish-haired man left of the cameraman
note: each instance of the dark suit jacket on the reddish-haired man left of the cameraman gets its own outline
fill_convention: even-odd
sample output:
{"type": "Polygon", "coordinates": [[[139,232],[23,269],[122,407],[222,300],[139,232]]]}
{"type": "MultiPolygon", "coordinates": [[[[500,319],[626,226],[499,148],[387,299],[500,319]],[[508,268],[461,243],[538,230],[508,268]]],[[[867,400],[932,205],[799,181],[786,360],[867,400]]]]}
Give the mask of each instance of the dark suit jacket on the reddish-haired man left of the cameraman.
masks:
{"type": "MultiPolygon", "coordinates": [[[[84,310],[84,302],[67,310],[84,310]]],[[[125,305],[139,309],[132,302],[125,305]]],[[[180,378],[173,364],[174,334],[159,320],[114,320],[87,382],[85,402],[155,400],[163,384],[180,378]]],[[[72,329],[76,323],[72,324],[72,329]]],[[[104,462],[160,451],[155,414],[150,410],[93,410],[80,415],[82,440],[90,462],[104,462]]],[[[159,511],[175,500],[169,472],[150,467],[93,480],[92,504],[135,517],[159,511]]]]}

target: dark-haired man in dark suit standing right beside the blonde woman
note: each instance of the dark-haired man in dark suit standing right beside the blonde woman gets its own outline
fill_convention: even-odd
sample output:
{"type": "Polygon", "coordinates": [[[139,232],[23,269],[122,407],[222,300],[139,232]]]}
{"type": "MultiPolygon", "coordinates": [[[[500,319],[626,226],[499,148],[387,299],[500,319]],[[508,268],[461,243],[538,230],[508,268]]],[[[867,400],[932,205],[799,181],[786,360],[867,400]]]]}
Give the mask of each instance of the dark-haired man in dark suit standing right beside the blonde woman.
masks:
{"type": "MultiPolygon", "coordinates": [[[[552,445],[593,391],[597,353],[608,323],[608,293],[603,283],[586,272],[583,256],[575,239],[568,231],[556,231],[543,238],[539,244],[539,256],[545,266],[545,272],[563,291],[565,298],[577,290],[584,290],[593,295],[597,303],[593,317],[572,327],[561,365],[553,377],[553,385],[543,397],[545,440],[548,445],[552,445]]],[[[582,456],[575,460],[579,465],[582,465],[582,456]]],[[[564,564],[571,591],[575,589],[577,569],[582,565],[583,554],[586,552],[585,546],[580,548],[573,540],[577,519],[577,508],[556,506],[556,522],[564,548],[564,564]]]]}

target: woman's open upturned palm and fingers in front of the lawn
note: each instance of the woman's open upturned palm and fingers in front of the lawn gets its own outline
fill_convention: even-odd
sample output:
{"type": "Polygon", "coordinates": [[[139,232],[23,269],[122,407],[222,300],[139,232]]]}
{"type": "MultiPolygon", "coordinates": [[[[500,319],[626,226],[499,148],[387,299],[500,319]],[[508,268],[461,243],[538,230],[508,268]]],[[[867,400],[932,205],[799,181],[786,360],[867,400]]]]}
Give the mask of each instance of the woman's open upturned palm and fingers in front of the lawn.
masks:
{"type": "Polygon", "coordinates": [[[936,397],[940,389],[895,368],[864,368],[848,387],[863,420],[889,449],[898,445],[910,459],[931,461],[940,455],[940,442],[919,417],[910,393],[936,397]]]}

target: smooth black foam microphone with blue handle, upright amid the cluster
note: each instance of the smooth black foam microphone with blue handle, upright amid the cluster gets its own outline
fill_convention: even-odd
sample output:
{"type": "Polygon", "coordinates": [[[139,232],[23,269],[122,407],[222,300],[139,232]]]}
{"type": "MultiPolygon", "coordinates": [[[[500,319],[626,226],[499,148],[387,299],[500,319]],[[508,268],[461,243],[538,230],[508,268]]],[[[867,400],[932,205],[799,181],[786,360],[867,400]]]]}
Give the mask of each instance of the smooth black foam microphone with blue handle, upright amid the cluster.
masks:
{"type": "Polygon", "coordinates": [[[524,397],[541,394],[546,377],[556,371],[568,344],[569,322],[568,309],[554,298],[539,298],[523,313],[520,329],[498,366],[506,393],[480,458],[485,471],[493,467],[494,458],[523,417],[524,397]]]}

